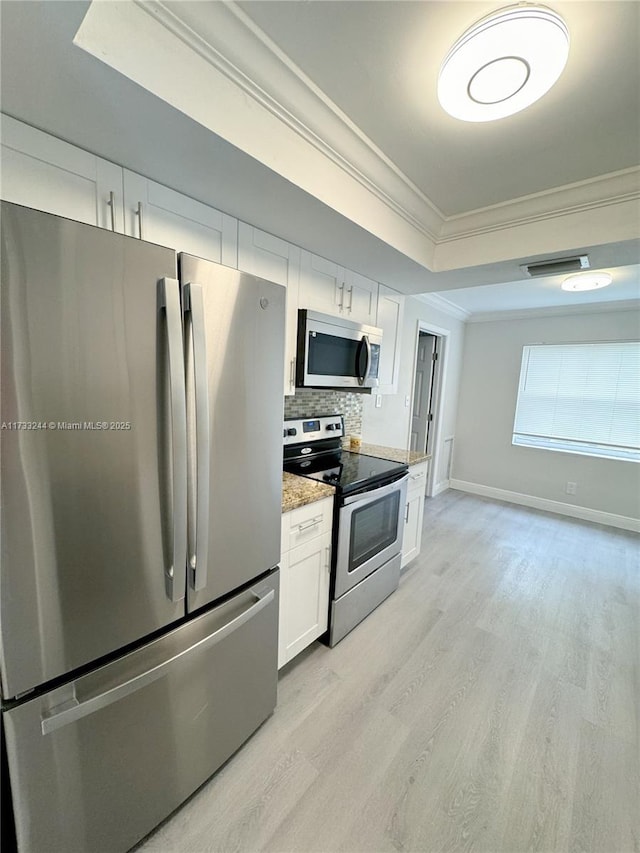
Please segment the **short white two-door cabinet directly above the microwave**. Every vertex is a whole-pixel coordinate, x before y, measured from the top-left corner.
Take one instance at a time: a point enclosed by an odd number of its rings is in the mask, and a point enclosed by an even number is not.
[[[300,308],[375,325],[378,284],[311,252],[300,253]]]

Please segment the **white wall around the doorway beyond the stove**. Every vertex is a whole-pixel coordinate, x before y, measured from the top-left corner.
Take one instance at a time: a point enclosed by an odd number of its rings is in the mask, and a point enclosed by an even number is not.
[[[370,444],[382,444],[387,447],[409,446],[411,427],[411,407],[413,400],[413,374],[416,361],[416,342],[418,324],[423,321],[436,333],[445,330],[445,348],[443,360],[444,387],[442,398],[442,420],[438,436],[438,456],[441,464],[435,478],[436,487],[443,481],[445,453],[444,442],[453,436],[456,425],[456,406],[462,366],[462,348],[465,324],[448,314],[437,310],[427,303],[413,297],[407,297],[404,303],[402,325],[402,351],[400,356],[400,378],[398,393],[384,395],[381,408],[375,408],[375,394],[364,398],[362,413],[362,438]],[[409,405],[405,405],[406,398]]]

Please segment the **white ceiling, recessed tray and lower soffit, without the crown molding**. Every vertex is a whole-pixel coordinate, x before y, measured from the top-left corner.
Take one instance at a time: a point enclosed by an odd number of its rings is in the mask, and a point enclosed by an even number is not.
[[[633,0],[554,3],[572,37],[565,74],[538,104],[484,125],[446,116],[435,99],[435,80],[451,43],[500,4],[237,5],[265,43],[283,51],[406,184],[454,224],[471,210],[640,161],[640,4]],[[164,4],[205,38],[215,6],[216,0]],[[614,274],[614,285],[595,295],[561,296],[553,279],[523,282],[518,258],[446,272],[425,268],[392,241],[340,215],[339,207],[283,179],[282,172],[212,133],[187,111],[74,46],[88,7],[87,0],[0,3],[3,111],[407,293],[442,290],[471,312],[640,295],[633,240],[580,247],[589,251],[594,267]],[[230,44],[230,56],[233,48]],[[549,254],[562,253],[540,249],[540,257]]]

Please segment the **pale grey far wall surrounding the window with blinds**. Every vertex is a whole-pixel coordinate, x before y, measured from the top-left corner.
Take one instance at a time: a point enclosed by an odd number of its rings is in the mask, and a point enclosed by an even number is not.
[[[637,463],[511,444],[525,344],[638,338],[639,321],[637,312],[608,311],[468,324],[452,472],[452,479],[461,482],[453,485],[503,489],[557,501],[569,505],[567,509],[573,505],[624,518],[640,517]],[[575,496],[566,494],[568,481],[577,483]],[[598,520],[589,512],[575,514]]]

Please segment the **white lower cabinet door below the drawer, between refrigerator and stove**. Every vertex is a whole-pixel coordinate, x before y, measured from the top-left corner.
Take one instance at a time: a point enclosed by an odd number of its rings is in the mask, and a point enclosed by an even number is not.
[[[331,539],[317,536],[292,548],[280,563],[282,578],[278,666],[327,630]]]

